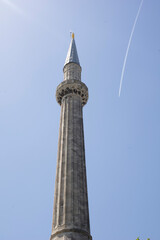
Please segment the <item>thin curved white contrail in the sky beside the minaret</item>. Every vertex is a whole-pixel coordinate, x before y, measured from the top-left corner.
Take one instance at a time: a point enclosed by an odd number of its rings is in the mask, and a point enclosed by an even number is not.
[[[131,35],[130,35],[130,38],[129,38],[129,41],[128,41],[128,46],[127,46],[126,55],[125,55],[125,58],[124,58],[124,63],[123,63],[123,68],[122,68],[122,73],[121,73],[121,80],[120,80],[120,86],[119,86],[119,97],[121,95],[122,81],[123,81],[124,70],[125,70],[126,61],[127,61],[127,57],[128,57],[128,52],[129,52],[129,48],[130,48],[130,45],[131,45],[133,33],[134,33],[134,30],[135,30],[135,26],[136,26],[136,23],[137,23],[142,5],[143,5],[143,0],[141,1],[140,5],[139,5],[139,9],[138,9],[138,12],[137,12],[137,15],[136,15],[133,27],[132,27]]]

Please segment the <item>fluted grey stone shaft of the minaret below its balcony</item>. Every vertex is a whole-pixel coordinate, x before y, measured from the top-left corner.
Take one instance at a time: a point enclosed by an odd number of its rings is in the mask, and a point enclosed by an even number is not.
[[[72,93],[61,102],[51,239],[64,236],[90,239],[82,101]]]

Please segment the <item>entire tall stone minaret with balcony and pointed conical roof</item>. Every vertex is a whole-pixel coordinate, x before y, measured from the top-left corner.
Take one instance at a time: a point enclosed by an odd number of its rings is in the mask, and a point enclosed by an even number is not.
[[[88,88],[81,82],[81,66],[72,34],[56,90],[61,106],[53,224],[50,240],[89,240],[89,210],[83,133],[83,106]]]

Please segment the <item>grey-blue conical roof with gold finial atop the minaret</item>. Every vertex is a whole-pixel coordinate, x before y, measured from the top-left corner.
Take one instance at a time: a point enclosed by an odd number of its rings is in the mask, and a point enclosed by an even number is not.
[[[72,33],[72,39],[71,39],[71,43],[70,43],[70,46],[68,49],[68,53],[67,53],[67,57],[66,57],[66,61],[65,61],[64,65],[66,65],[67,63],[72,63],[72,62],[80,65],[77,48],[76,48],[76,43],[74,40],[74,33]]]

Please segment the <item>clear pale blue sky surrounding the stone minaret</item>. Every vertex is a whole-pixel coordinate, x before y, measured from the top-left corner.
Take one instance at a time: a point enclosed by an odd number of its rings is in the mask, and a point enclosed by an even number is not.
[[[49,239],[60,107],[75,40],[94,240],[160,239],[160,2],[0,0],[0,240]]]

